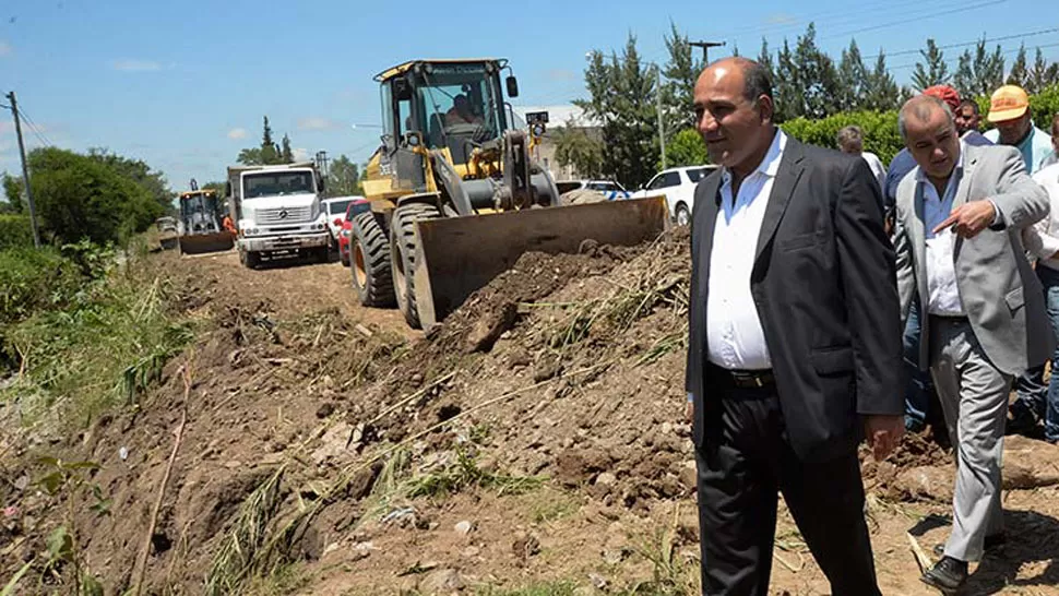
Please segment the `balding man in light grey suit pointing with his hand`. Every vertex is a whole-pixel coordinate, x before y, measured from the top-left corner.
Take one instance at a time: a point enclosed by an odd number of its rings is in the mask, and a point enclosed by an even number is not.
[[[923,581],[944,593],[1003,537],[1000,458],[1012,379],[1054,342],[1021,230],[1048,196],[1012,147],[973,146],[951,109],[909,99],[899,126],[918,164],[897,189],[897,288],[903,315],[923,306],[920,367],[929,365],[956,455],[952,533]]]

